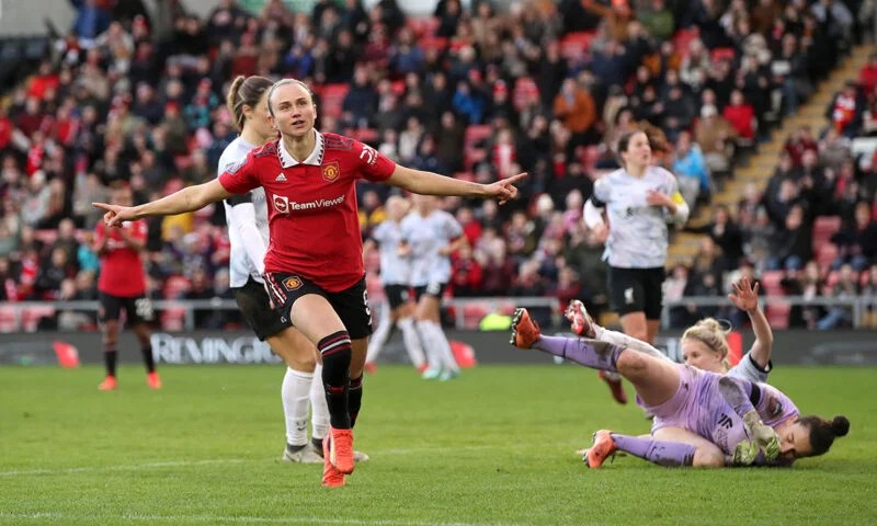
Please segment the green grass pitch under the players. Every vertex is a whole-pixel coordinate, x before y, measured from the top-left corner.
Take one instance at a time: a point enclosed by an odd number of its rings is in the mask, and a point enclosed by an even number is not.
[[[438,384],[385,366],[355,432],[372,460],[331,490],[321,466],[280,461],[281,366],[160,373],[160,391],[126,366],[99,392],[99,367],[0,368],[0,524],[877,523],[874,368],[772,375],[804,412],[852,422],[793,469],[589,470],[572,451],[593,431],[648,428],[593,371],[486,366]]]

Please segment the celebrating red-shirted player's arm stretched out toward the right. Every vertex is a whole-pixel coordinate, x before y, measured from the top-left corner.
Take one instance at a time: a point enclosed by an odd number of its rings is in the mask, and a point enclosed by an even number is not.
[[[499,199],[500,204],[503,204],[517,196],[517,188],[514,183],[526,175],[526,173],[519,173],[492,184],[479,184],[447,178],[437,173],[412,170],[397,164],[392,175],[386,182],[389,185],[420,195],[480,197],[483,199]]]

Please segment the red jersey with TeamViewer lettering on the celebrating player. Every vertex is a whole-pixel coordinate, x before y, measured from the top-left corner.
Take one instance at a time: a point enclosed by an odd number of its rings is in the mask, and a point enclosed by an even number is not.
[[[275,140],[250,151],[219,182],[234,194],[265,190],[271,232],[266,272],[299,274],[335,293],[365,273],[356,180],[384,181],[396,164],[360,141],[315,133],[314,152],[303,162]]]

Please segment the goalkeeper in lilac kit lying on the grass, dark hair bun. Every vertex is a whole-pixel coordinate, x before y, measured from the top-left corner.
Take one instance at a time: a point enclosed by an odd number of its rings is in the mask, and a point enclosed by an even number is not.
[[[590,339],[543,336],[526,309],[517,309],[511,343],[619,373],[637,390],[637,403],[654,415],[649,438],[608,431],[594,434],[588,465],[596,468],[616,450],[661,466],[790,465],[822,455],[850,422],[799,418],[779,390],[722,376]]]

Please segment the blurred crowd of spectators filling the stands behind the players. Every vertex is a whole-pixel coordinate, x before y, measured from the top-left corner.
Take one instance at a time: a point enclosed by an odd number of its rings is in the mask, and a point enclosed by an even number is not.
[[[396,0],[371,9],[319,0],[308,13],[280,0],[259,12],[221,0],[204,20],[185,0],[153,13],[139,0],[71,2],[72,31],[0,112],[4,301],[94,298],[90,243],[101,215],[90,203],[119,184],[144,202],[214,178],[236,133],[223,104],[228,83],[263,75],[301,79],[321,130],[398,162],[479,182],[529,172],[509,206],[445,201],[468,240],[452,294],[582,298],[599,311],[603,247],[581,210],[593,179],[617,167],[615,139],[660,128],[660,162],[692,206],[708,205],[738,152],[794,115],[866,27],[856,0],[441,0],[429,19],[407,19]],[[832,102],[824,136],[789,140],[763,194],[753,187],[737,210],[715,209],[709,241],[691,268],[673,270],[669,289],[721,295],[747,267],[797,279],[815,255],[815,218],[825,215],[843,220],[832,238],[840,273],[875,263],[877,164],[850,153],[851,138],[877,129],[875,84],[877,59]],[[360,185],[364,237],[390,191]],[[153,299],[230,297],[224,225],[220,206],[149,220]],[[683,310],[679,319],[694,313]],[[234,319],[205,311],[197,321]]]

